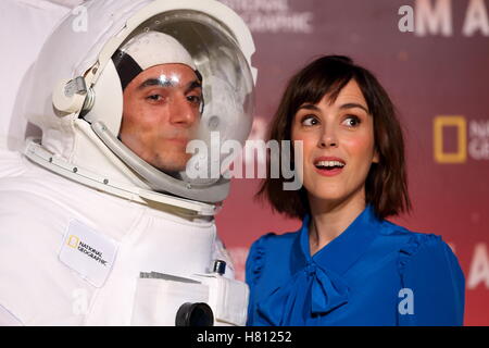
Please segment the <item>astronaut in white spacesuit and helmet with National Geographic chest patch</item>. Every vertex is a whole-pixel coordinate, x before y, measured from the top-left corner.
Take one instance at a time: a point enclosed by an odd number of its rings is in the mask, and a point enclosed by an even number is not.
[[[0,178],[0,324],[243,325],[214,223],[229,181],[191,178],[215,159],[186,149],[247,138],[251,35],[214,0],[84,5],[17,97],[42,138]]]

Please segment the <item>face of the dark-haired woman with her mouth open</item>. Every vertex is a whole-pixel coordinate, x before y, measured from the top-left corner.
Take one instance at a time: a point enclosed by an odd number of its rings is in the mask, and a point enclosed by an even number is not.
[[[378,156],[374,120],[355,80],[334,102],[325,95],[316,104],[302,104],[292,121],[291,137],[303,141],[301,175],[310,200],[364,202],[365,181]]]

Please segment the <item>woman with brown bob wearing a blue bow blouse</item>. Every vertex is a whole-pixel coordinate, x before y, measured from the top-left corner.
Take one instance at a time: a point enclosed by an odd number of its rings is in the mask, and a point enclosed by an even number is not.
[[[303,223],[251,247],[250,325],[463,323],[464,275],[448,245],[385,220],[411,202],[401,126],[371,72],[315,60],[290,79],[269,139],[301,146],[291,164],[303,186],[266,178],[259,196]]]

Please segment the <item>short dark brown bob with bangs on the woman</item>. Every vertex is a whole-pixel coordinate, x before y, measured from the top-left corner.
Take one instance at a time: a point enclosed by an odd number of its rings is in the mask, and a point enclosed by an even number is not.
[[[367,70],[343,55],[322,57],[298,72],[289,80],[286,91],[272,121],[268,140],[291,140],[291,125],[299,108],[317,103],[329,94],[336,100],[341,89],[354,79],[374,117],[375,149],[379,163],[373,163],[365,182],[365,203],[372,204],[376,215],[385,219],[408,212],[411,201],[404,162],[404,140],[401,126],[386,90]],[[269,171],[269,158],[268,158]],[[293,159],[290,167],[293,167]],[[272,208],[290,217],[303,219],[310,213],[306,190],[284,190],[284,177],[267,175],[256,194],[266,198]]]

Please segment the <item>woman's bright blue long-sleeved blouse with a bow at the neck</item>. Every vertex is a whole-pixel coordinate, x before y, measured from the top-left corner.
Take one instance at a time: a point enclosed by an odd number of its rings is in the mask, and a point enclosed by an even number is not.
[[[463,324],[464,274],[441,237],[378,220],[367,206],[311,257],[310,219],[252,245],[249,325]]]

